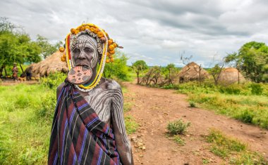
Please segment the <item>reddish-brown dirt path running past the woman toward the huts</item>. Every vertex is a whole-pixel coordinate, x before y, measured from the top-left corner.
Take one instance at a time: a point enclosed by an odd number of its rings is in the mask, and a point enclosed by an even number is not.
[[[132,140],[135,164],[202,164],[202,159],[209,159],[210,164],[221,164],[223,159],[209,152],[204,135],[209,128],[216,128],[226,135],[248,143],[253,151],[268,157],[268,131],[243,124],[209,110],[188,107],[186,95],[173,90],[148,88],[125,83],[128,93],[124,95],[126,102],[133,106],[126,115],[131,115],[140,124],[136,133],[130,135]],[[166,126],[176,119],[190,121],[185,139],[181,146],[166,138]],[[144,148],[137,147],[138,143]],[[136,145],[136,147],[135,147]]]

